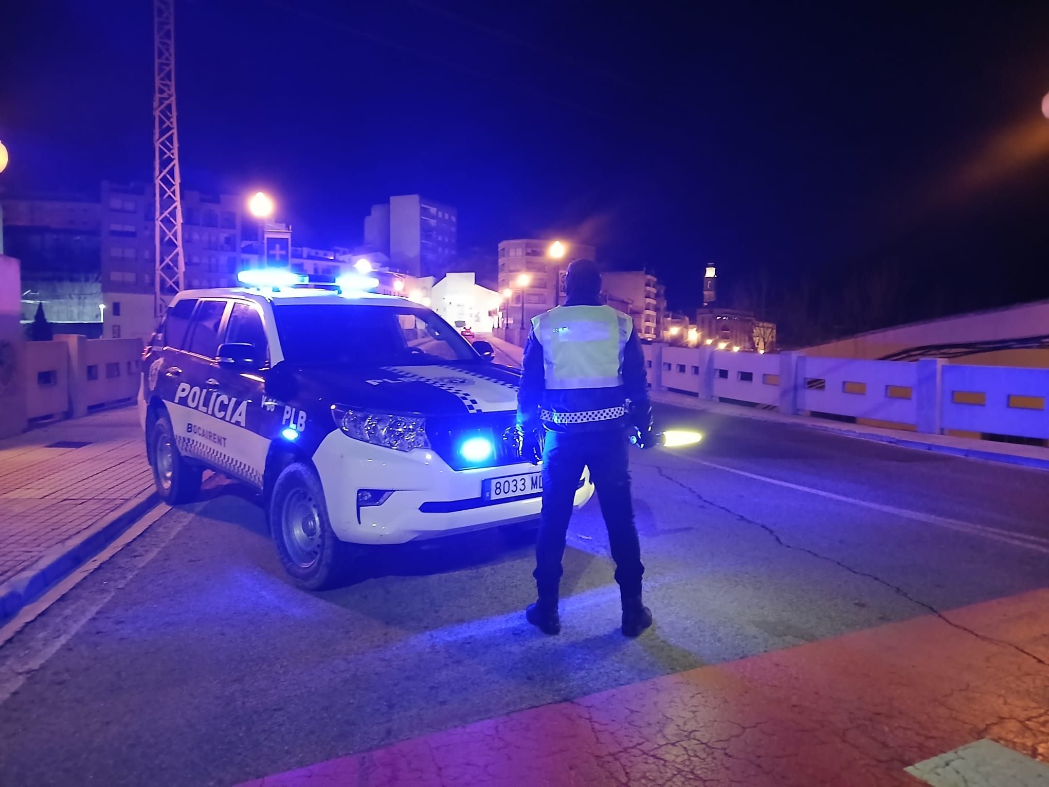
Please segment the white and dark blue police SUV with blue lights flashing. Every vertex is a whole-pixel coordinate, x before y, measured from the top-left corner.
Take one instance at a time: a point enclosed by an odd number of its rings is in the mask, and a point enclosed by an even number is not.
[[[281,561],[311,590],[349,578],[354,545],[538,516],[541,476],[514,430],[519,375],[491,344],[343,282],[241,281],[259,286],[179,293],[146,349],[140,414],[166,502],[193,501],[206,468],[255,487]],[[592,493],[584,474],[576,505]]]

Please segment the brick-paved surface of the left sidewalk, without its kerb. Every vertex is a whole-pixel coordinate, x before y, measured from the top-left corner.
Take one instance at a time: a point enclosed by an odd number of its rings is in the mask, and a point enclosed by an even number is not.
[[[152,483],[134,407],[0,441],[0,584]]]

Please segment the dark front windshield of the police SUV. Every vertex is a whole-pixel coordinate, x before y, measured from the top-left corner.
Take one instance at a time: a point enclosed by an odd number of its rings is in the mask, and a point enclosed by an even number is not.
[[[480,360],[428,309],[304,303],[273,312],[284,360],[292,363],[403,366]]]

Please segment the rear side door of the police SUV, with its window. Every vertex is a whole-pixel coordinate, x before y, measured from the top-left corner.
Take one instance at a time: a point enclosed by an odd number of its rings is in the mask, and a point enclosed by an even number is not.
[[[218,339],[231,303],[226,298],[200,298],[190,320],[178,363],[168,369],[174,391],[165,397],[178,450],[186,456],[223,469],[228,437],[218,428],[224,409],[216,412],[219,386]]]

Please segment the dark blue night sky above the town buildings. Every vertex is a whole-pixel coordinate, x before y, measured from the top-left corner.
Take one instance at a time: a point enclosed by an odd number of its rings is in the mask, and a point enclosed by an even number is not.
[[[8,5],[6,190],[149,179],[150,3]],[[178,0],[176,35],[184,183],[299,242],[420,192],[461,251],[563,233],[678,307],[706,264],[782,323],[886,271],[875,322],[1049,297],[1049,3]]]

